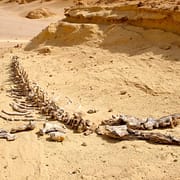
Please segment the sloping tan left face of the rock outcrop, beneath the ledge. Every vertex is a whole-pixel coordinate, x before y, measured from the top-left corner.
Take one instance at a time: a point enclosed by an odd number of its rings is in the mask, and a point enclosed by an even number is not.
[[[78,45],[87,42],[93,44],[93,41],[100,41],[98,39],[100,39],[101,33],[97,25],[52,23],[34,37],[25,50],[36,49],[41,44],[53,46]]]

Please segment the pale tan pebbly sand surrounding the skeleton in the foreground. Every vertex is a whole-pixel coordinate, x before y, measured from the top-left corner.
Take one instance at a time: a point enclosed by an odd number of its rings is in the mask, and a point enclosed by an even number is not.
[[[0,9],[0,13],[2,11]],[[4,14],[5,17],[13,18]],[[24,18],[13,19],[17,25],[26,21]],[[16,28],[12,33],[9,23],[1,40],[29,40],[47,22],[38,26],[36,32],[31,31],[31,23],[27,23],[23,34],[18,34]],[[41,23],[44,21],[38,21]],[[68,111],[97,109],[96,114],[84,114],[94,122],[119,112],[138,117],[160,117],[179,112],[179,36],[131,26],[126,26],[126,29],[125,33],[137,37],[138,41],[133,41],[135,44],[126,44],[125,41],[124,48],[119,42],[114,47],[109,45],[114,42],[114,39],[109,39],[106,46],[97,48],[87,44],[50,45],[52,52],[43,55],[21,48],[4,48],[11,43],[1,43],[0,109],[9,109],[8,104],[12,101],[6,92],[12,85],[8,80],[8,67],[10,58],[18,55],[30,78],[44,87],[60,106]],[[150,41],[147,41],[147,35]],[[157,38],[166,40],[158,44]],[[153,41],[154,44],[150,43]],[[121,95],[121,91],[127,93]],[[72,100],[71,105],[66,105],[66,96]],[[113,109],[111,113],[108,112],[110,108]],[[0,121],[0,127],[7,130],[16,124],[21,122]],[[14,142],[0,140],[0,179],[180,179],[179,147],[144,141],[118,142],[95,134],[85,137],[71,131],[63,143],[53,143],[46,141],[46,137],[38,138],[37,131],[38,128],[20,133]],[[180,137],[179,131],[180,126],[162,132]],[[83,142],[87,146],[82,146]]]

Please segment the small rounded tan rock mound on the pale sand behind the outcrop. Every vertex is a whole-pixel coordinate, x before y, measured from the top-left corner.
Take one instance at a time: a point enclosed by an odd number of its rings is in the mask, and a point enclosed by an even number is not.
[[[51,16],[54,16],[55,13],[50,12],[47,8],[39,8],[39,9],[34,9],[30,11],[27,15],[26,18],[29,19],[41,19],[41,18],[48,18]]]

